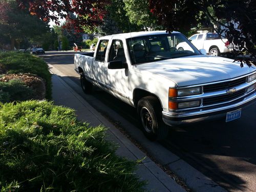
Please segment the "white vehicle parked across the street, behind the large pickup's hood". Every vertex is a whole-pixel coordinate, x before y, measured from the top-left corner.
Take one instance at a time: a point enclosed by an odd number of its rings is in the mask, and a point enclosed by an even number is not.
[[[199,33],[188,38],[196,48],[205,49],[206,53],[212,56],[219,56],[231,52],[234,48],[227,39],[221,38],[218,33]],[[178,50],[189,50],[186,44],[178,44]]]

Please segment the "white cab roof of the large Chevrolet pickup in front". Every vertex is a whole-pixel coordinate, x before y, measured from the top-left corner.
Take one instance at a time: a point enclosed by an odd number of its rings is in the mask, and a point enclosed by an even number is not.
[[[180,32],[173,31],[172,33],[180,33]],[[157,34],[166,34],[166,31],[140,31],[140,32],[131,32],[131,33],[119,33],[114,35],[103,36],[100,38],[106,38],[106,37],[132,38],[132,37],[157,35]]]

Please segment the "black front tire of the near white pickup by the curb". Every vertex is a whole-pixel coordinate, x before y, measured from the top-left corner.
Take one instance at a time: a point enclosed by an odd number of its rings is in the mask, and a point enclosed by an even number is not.
[[[169,127],[162,120],[162,108],[156,97],[147,96],[140,99],[137,113],[146,138],[160,141],[167,137]]]

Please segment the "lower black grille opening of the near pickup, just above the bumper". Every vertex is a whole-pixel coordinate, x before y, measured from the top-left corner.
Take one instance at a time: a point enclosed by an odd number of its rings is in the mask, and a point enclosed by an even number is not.
[[[231,101],[233,99],[243,96],[245,94],[245,90],[246,89],[240,90],[231,95],[221,95],[221,96],[216,96],[216,97],[204,98],[203,105],[205,106],[205,105],[218,104],[218,103],[222,103],[222,102]]]

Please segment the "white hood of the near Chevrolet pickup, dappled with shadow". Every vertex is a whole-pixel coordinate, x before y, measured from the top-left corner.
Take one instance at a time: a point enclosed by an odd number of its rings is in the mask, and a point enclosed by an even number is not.
[[[241,68],[240,62],[224,57],[196,55],[143,63],[137,65],[137,70],[163,76],[183,87],[239,77],[255,71],[255,68],[247,65]]]

